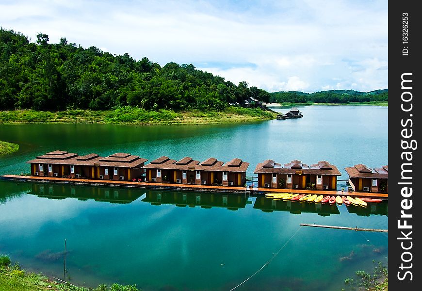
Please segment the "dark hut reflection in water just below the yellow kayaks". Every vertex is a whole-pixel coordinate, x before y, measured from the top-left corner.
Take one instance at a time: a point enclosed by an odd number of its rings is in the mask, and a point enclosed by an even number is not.
[[[340,214],[337,205],[330,205],[329,203],[308,203],[299,201],[284,201],[275,200],[266,197],[257,197],[254,204],[255,209],[260,209],[264,212],[276,211],[289,211],[293,214],[306,213],[318,213],[321,216],[329,216],[331,214]]]

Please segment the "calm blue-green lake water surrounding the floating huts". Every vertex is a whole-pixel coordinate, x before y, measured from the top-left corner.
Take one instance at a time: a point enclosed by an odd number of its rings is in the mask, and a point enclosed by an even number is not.
[[[20,145],[0,174],[55,149],[130,152],[196,160],[327,160],[388,164],[388,108],[308,106],[304,118],[219,126],[15,125],[0,140]],[[281,109],[287,112],[286,109]],[[343,182],[339,182],[341,188]],[[300,223],[388,227],[388,204],[368,208],[287,203],[263,197],[0,181],[0,253],[27,268],[93,286],[142,290],[341,290],[356,270],[386,262],[388,235],[300,228]],[[297,232],[296,232],[297,231]],[[295,234],[296,233],[296,234]],[[295,234],[293,236],[293,234]]]

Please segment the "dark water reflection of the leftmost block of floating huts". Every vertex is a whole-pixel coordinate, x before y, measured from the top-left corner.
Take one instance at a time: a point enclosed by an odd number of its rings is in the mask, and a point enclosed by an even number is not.
[[[34,183],[30,194],[49,199],[77,198],[81,201],[94,199],[101,202],[126,204],[138,199],[144,192],[135,189],[116,189],[112,187],[80,187]]]

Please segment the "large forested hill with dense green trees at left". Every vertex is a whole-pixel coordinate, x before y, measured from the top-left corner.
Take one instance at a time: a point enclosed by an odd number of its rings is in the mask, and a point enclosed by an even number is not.
[[[238,86],[194,65],[161,67],[146,57],[113,55],[84,49],[62,38],[49,44],[39,33],[36,43],[13,30],[0,29],[0,110],[105,110],[138,106],[146,110],[223,110],[227,102],[270,95],[246,82]]]

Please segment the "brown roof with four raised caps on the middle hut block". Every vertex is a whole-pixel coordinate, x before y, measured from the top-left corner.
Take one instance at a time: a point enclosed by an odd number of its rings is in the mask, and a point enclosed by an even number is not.
[[[195,161],[190,157],[186,157],[178,162],[176,162],[175,160],[168,160],[161,164],[151,162],[145,165],[143,168],[168,170],[189,170],[189,168],[195,168],[196,171],[246,172],[248,166],[249,163],[243,162],[241,159],[233,159],[227,164],[224,164],[224,162],[217,161],[217,159],[215,158],[208,158],[204,162],[199,163],[198,161]]]

